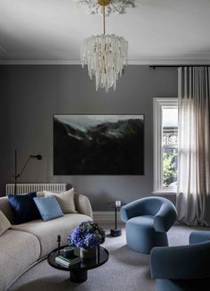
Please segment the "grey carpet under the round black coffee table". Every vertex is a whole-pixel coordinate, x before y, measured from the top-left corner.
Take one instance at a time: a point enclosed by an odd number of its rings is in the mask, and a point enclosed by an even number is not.
[[[109,234],[109,226],[102,226]],[[169,245],[187,245],[190,232],[202,228],[174,226],[168,232]],[[206,229],[206,228],[205,228]],[[206,229],[209,230],[209,229]],[[89,270],[83,284],[69,281],[69,272],[53,269],[46,260],[38,263],[18,279],[9,291],[154,291],[155,281],[150,279],[149,255],[133,252],[122,237],[107,237],[103,244],[109,250],[109,261]]]

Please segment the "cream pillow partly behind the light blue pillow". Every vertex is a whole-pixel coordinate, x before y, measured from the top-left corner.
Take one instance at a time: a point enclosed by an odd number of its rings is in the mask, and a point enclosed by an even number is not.
[[[67,213],[76,213],[75,207],[75,189],[71,188],[68,191],[61,193],[54,193],[50,191],[44,191],[44,196],[54,195],[61,206],[61,211],[64,214]]]

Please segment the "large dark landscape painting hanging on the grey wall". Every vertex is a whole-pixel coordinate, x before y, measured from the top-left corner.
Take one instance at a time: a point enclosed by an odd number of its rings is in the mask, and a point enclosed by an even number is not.
[[[54,115],[54,175],[143,175],[143,115]]]

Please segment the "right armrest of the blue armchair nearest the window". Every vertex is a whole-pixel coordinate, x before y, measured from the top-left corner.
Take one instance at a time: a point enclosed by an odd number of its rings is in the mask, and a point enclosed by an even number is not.
[[[177,218],[174,204],[163,204],[154,217],[154,228],[156,231],[168,231]]]

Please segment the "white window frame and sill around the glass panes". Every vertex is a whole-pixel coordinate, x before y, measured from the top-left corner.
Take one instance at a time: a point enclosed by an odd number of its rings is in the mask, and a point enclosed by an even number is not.
[[[162,107],[171,106],[178,107],[177,97],[155,97],[153,98],[153,166],[154,166],[154,179],[153,179],[153,194],[176,193],[176,187],[162,187]],[[179,130],[179,129],[178,129]]]

